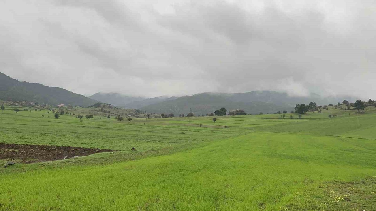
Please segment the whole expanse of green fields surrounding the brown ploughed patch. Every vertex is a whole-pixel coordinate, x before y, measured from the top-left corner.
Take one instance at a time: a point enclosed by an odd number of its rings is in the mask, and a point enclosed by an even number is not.
[[[3,168],[0,210],[376,210],[374,107],[215,123],[46,112],[7,107],[0,142],[120,151]]]

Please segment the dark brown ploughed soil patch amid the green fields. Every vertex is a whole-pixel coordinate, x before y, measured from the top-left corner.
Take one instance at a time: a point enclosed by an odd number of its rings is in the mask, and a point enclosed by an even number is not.
[[[0,160],[16,163],[37,163],[86,156],[111,149],[91,149],[73,146],[19,145],[0,143]]]

